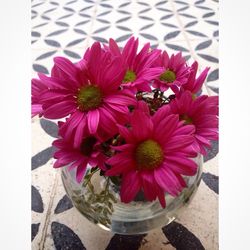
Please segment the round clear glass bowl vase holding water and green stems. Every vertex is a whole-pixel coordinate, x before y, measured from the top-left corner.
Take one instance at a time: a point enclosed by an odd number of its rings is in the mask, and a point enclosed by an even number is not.
[[[193,198],[200,184],[203,158],[199,155],[194,161],[198,171],[194,176],[185,176],[187,188],[177,197],[165,195],[166,208],[162,208],[158,199],[149,202],[139,192],[134,201],[125,204],[120,201],[119,185],[113,180],[88,169],[81,183],[75,179],[75,171],[62,169],[62,181],[67,195],[77,210],[88,220],[103,229],[118,234],[142,234],[167,225],[173,221],[180,210]],[[86,179],[91,182],[86,184]]]

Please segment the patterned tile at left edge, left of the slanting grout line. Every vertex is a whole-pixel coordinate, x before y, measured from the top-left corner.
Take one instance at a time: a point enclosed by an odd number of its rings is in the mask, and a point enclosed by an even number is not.
[[[40,122],[36,118],[33,119],[31,132],[33,138],[31,160],[32,246],[34,249],[38,249],[49,216],[56,173],[52,168],[53,149],[51,150],[50,145],[53,138],[41,129]],[[44,148],[45,145],[47,145],[46,148]]]

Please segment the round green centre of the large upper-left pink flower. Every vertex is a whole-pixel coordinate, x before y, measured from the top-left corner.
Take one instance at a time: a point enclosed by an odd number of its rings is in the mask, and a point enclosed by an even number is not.
[[[77,94],[77,104],[81,111],[98,108],[102,103],[101,90],[95,85],[82,87]]]

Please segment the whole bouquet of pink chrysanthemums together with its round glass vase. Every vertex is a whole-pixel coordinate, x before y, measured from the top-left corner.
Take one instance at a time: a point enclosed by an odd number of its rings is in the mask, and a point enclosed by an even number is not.
[[[209,68],[197,76],[181,52],[138,45],[95,42],[79,62],[55,57],[50,76],[32,79],[32,116],[59,120],[54,168],[74,206],[128,234],[174,219],[218,140],[218,97],[200,94]]]

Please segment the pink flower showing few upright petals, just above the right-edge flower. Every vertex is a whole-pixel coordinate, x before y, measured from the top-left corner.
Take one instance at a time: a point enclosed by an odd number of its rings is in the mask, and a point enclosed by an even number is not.
[[[198,63],[194,62],[190,67],[190,75],[187,82],[181,85],[182,92],[185,90],[189,90],[190,92],[192,92],[192,94],[197,94],[197,92],[201,90],[202,84],[207,77],[209,67],[206,67],[196,79],[197,70]]]

